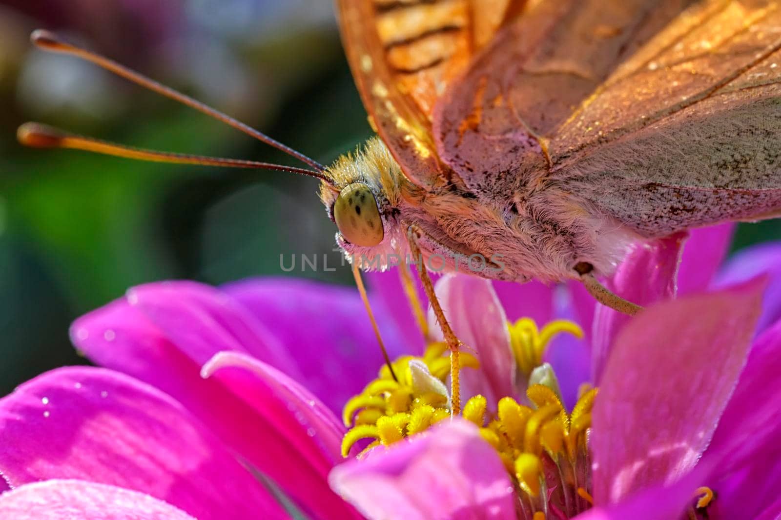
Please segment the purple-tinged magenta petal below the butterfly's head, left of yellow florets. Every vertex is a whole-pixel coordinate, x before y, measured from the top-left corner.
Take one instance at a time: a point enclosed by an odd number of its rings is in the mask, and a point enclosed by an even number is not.
[[[395,271],[384,275],[398,279]],[[302,379],[294,379],[337,413],[341,413],[350,397],[361,393],[383,365],[366,309],[355,288],[307,280],[259,279],[230,283],[223,290],[280,338],[301,374]],[[402,299],[396,305],[401,308],[406,303]],[[374,312],[380,319],[383,341],[391,357],[408,354],[401,348],[406,345],[398,331],[384,326],[387,316],[383,311],[376,308]],[[423,336],[417,326],[415,329],[419,344],[423,344]]]

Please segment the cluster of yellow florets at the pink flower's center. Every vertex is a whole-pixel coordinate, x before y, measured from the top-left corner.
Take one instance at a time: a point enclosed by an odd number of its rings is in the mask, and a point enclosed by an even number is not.
[[[598,390],[584,383],[572,411],[567,411],[555,373],[542,358],[558,333],[583,337],[583,331],[566,320],[538,329],[528,318],[508,324],[508,329],[519,372],[528,382],[525,395],[520,400],[502,397],[490,408],[486,397],[475,395],[466,401],[462,418],[480,429],[504,463],[519,497],[520,518],[572,518],[594,504],[588,442]],[[342,418],[350,429],[342,440],[342,456],[348,457],[361,441],[369,443],[358,457],[450,417],[452,404],[445,385],[451,369],[447,352],[444,342],[433,343],[423,357],[398,358],[392,364],[398,381],[383,365],[378,378],[344,405]],[[460,353],[460,361],[465,368],[480,368],[478,360],[467,352]],[[692,512],[699,515],[712,496],[708,488],[697,490]]]

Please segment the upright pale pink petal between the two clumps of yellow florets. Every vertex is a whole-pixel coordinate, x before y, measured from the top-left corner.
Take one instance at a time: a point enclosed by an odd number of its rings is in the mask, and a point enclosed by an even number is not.
[[[475,352],[480,369],[464,369],[462,395],[483,394],[495,404],[501,397],[515,396],[515,360],[510,347],[505,312],[489,280],[476,276],[446,275],[435,287],[440,305],[455,335]]]

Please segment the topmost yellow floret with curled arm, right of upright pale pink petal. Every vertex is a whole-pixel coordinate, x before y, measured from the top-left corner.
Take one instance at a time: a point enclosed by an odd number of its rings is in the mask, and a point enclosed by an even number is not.
[[[583,329],[566,319],[556,319],[540,330],[533,319],[521,318],[515,323],[508,323],[508,330],[515,361],[525,376],[542,365],[545,350],[556,335],[569,333],[577,338],[583,337]]]

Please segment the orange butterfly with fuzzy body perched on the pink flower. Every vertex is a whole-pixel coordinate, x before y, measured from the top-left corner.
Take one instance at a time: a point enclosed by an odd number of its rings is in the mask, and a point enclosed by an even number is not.
[[[330,167],[45,31],[37,45],[191,105],[308,167],[139,151],[36,123],[20,128],[20,140],[315,176],[337,243],[356,264],[387,269],[411,255],[422,274],[437,258],[446,270],[498,280],[581,280],[629,313],[637,306],[597,281],[628,244],[781,215],[779,2],[337,7],[378,137]]]

